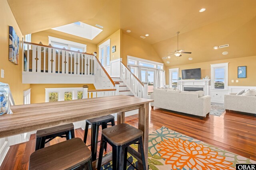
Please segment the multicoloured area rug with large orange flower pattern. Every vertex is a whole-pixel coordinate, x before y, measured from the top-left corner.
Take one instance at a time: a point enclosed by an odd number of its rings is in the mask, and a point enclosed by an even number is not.
[[[214,147],[167,127],[149,134],[148,165],[150,170],[235,170],[236,164],[256,164],[256,161]],[[132,147],[137,148],[136,145]],[[137,160],[128,154],[137,167]],[[102,166],[102,170],[110,166]],[[129,163],[127,170],[134,170]],[[109,167],[108,170],[112,170]]]

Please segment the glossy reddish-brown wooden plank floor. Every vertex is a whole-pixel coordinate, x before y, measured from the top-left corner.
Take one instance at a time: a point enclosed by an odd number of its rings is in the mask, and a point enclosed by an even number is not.
[[[126,117],[126,123],[138,127],[138,115]],[[220,117],[207,115],[204,120],[201,120],[196,116],[173,113],[155,107],[150,111],[149,126],[150,133],[165,126],[216,147],[256,160],[256,117],[252,115],[224,112]],[[83,139],[84,131],[76,129],[75,136]],[[50,141],[50,145],[64,140],[57,138]],[[89,145],[90,137],[87,141]],[[29,156],[34,152],[34,148],[34,135],[28,142],[11,146],[0,170],[28,169]],[[108,146],[107,152],[110,150]]]

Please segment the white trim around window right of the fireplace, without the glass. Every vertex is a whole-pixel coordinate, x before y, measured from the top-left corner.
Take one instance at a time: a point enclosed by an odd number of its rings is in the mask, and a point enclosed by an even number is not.
[[[224,89],[215,89],[214,88],[214,81],[215,81],[214,68],[224,68],[225,69]],[[228,90],[228,63],[211,64],[211,90]]]

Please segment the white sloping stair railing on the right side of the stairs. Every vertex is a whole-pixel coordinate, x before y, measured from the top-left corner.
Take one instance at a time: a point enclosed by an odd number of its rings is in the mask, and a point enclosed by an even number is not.
[[[120,78],[124,81],[126,86],[138,98],[147,98],[148,86],[143,84],[130,70],[127,68],[122,61],[120,62]]]

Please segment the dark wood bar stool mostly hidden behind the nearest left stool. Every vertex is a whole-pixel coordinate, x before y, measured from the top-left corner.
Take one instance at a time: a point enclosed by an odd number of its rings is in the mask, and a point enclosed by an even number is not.
[[[44,148],[46,143],[56,137],[66,137],[67,140],[74,138],[74,124],[69,123],[36,131],[36,150]]]

